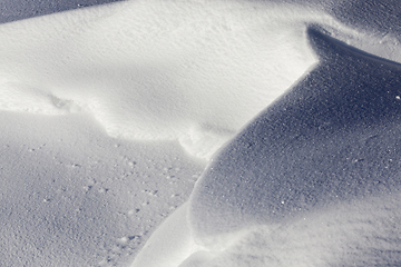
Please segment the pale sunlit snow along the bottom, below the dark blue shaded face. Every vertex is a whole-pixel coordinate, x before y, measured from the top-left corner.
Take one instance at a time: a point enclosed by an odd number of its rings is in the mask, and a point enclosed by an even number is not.
[[[214,238],[205,247],[193,240],[184,205],[131,267],[398,266],[400,200],[398,191],[334,205],[281,224],[229,233],[224,241]]]

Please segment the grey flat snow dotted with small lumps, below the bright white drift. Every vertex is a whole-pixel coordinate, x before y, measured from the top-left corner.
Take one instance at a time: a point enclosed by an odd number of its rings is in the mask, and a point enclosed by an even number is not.
[[[85,113],[0,113],[1,266],[127,266],[205,164]]]

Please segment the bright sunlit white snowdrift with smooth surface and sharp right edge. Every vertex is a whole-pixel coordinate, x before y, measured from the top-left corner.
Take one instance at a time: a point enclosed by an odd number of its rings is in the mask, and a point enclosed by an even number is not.
[[[209,158],[316,61],[305,23],[380,44],[322,8],[270,2],[127,1],[2,24],[0,109],[84,110],[110,136]]]

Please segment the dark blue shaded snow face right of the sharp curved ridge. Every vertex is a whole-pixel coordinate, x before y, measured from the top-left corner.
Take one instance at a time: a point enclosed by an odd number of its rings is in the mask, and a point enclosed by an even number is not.
[[[277,227],[362,199],[399,199],[401,66],[314,28],[307,32],[320,63],[222,149],[197,181],[189,225],[198,243],[209,246],[225,234]],[[359,205],[363,217],[368,211]],[[399,218],[399,205],[391,205]],[[346,211],[339,216],[346,225]],[[369,218],[376,224],[374,214]],[[379,249],[379,239],[369,246]]]

